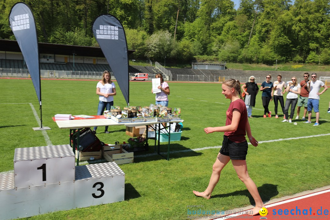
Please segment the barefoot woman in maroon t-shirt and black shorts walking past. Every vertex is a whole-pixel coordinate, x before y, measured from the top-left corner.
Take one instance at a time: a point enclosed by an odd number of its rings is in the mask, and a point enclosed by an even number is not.
[[[231,160],[238,177],[246,185],[255,202],[255,207],[248,215],[256,215],[259,213],[259,209],[265,206],[260,198],[257,186],[248,174],[246,163],[248,142],[245,139],[245,135],[248,135],[248,139],[253,146],[257,146],[258,141],[251,134],[247,109],[242,100],[240,81],[227,79],[222,83],[221,88],[225,98],[231,101],[226,112],[226,125],[204,128],[204,131],[206,134],[224,132],[222,147],[213,164],[213,172],[208,187],[204,192],[193,191],[193,193],[196,196],[210,199],[211,193],[219,181],[222,169]]]

